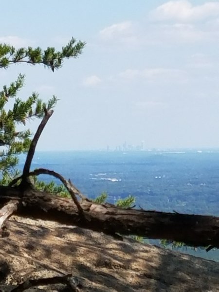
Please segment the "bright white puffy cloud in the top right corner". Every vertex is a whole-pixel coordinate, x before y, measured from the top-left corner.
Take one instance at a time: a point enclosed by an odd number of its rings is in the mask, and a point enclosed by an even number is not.
[[[219,2],[208,1],[193,6],[187,0],[168,1],[150,13],[152,20],[197,21],[219,15]]]

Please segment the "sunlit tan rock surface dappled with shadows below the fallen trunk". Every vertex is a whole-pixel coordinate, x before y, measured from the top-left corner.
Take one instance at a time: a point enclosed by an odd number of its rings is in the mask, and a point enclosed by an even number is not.
[[[83,292],[219,291],[214,261],[51,221],[13,216],[7,231],[0,238],[1,291],[30,278],[64,274],[72,274],[75,291]],[[37,288],[65,289],[64,284]]]

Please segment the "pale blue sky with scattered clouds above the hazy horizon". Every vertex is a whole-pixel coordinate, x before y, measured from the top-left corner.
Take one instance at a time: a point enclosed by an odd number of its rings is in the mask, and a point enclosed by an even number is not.
[[[20,98],[59,99],[38,150],[219,147],[219,1],[2,1],[1,43],[60,49],[71,37],[87,45],[55,73],[0,71],[0,86],[26,74]]]

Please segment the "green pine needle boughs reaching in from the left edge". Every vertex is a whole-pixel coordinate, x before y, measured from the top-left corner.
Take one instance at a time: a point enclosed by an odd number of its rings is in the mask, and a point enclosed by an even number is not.
[[[53,72],[61,68],[64,59],[76,58],[85,46],[85,42],[76,41],[72,38],[69,43],[62,47],[61,51],[56,51],[53,47],[48,47],[45,51],[41,48],[19,48],[8,44],[0,44],[0,68],[7,69],[15,63],[27,63],[31,65],[41,64]],[[0,184],[7,185],[19,171],[16,169],[19,158],[18,155],[28,151],[32,133],[29,128],[18,131],[17,126],[22,123],[26,126],[26,121],[33,118],[42,118],[45,110],[52,109],[57,98],[52,98],[43,102],[37,92],[33,92],[26,100],[18,97],[19,91],[24,86],[25,76],[19,74],[16,81],[9,86],[4,85],[0,91]],[[14,104],[10,110],[6,110],[9,100],[14,99]]]

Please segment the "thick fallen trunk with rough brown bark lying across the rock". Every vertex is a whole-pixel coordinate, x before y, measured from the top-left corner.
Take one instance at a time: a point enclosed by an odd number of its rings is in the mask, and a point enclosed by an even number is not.
[[[212,216],[163,213],[120,209],[111,204],[81,201],[83,216],[72,199],[18,187],[0,186],[0,205],[11,199],[19,201],[15,214],[76,225],[115,235],[137,235],[147,238],[185,242],[192,246],[219,247],[219,218]]]

